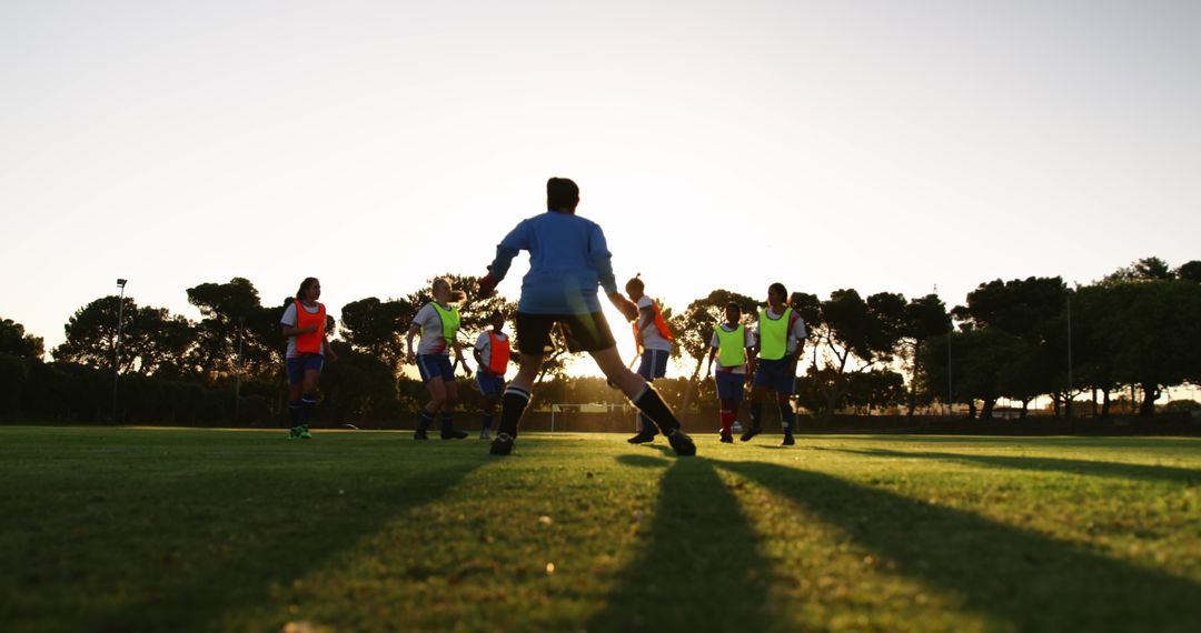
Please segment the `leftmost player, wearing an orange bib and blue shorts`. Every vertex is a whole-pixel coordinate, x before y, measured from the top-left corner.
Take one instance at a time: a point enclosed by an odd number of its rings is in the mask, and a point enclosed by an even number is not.
[[[309,421],[317,406],[317,379],[328,356],[337,360],[325,338],[325,306],[321,299],[321,282],[306,277],[300,282],[297,297],[288,303],[280,318],[280,327],[288,339],[285,367],[288,373],[288,417],[292,422],[289,440],[312,438]]]

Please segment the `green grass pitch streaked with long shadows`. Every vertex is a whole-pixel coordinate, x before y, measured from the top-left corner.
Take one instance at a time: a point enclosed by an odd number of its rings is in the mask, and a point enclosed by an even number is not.
[[[0,631],[1201,622],[1199,439],[283,435],[0,427]]]

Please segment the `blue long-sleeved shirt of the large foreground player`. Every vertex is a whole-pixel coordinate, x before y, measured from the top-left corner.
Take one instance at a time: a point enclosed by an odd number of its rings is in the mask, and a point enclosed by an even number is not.
[[[488,267],[498,282],[513,258],[530,252],[518,311],[527,314],[586,314],[600,311],[597,287],[616,293],[613,254],[600,225],[572,213],[548,211],[521,221],[496,246]]]

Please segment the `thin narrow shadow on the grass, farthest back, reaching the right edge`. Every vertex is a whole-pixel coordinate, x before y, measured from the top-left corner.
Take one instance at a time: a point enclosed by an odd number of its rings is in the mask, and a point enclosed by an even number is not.
[[[943,462],[961,462],[966,464],[984,464],[986,466],[1016,470],[1071,472],[1075,475],[1095,475],[1101,477],[1124,477],[1175,483],[1195,484],[1201,482],[1201,470],[1178,466],[1157,466],[1151,464],[1124,464],[1121,462],[1093,462],[1088,459],[1063,459],[1058,457],[1018,457],[985,456],[970,453],[933,453],[889,451],[885,448],[827,448],[841,453],[855,453],[882,458],[937,459]]]

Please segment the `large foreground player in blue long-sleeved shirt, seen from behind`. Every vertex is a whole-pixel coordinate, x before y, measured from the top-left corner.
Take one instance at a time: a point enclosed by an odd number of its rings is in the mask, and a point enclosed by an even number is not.
[[[626,319],[638,318],[638,308],[617,293],[613,255],[604,233],[594,222],[575,215],[580,189],[568,179],[546,181],[546,212],[522,221],[501,240],[489,273],[479,281],[480,297],[492,294],[504,279],[513,258],[530,252],[530,272],[521,281],[518,302],[516,346],[521,351],[518,375],[501,399],[501,426],[492,440],[492,454],[509,454],[518,435],[518,422],[530,404],[534,378],[544,355],[552,350],[550,331],[563,330],[572,351],[587,351],[609,382],[620,388],[645,412],[680,456],[697,454],[697,446],[680,429],[680,421],[668,409],[646,379],[621,362],[609,322],[600,312],[597,287]]]

